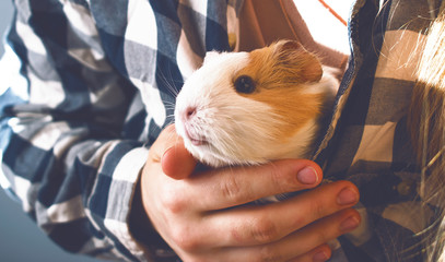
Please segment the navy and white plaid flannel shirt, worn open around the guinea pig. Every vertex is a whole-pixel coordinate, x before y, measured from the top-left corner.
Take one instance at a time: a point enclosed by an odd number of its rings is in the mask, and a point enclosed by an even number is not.
[[[363,223],[336,241],[332,261],[421,260],[417,234],[434,206],[418,199],[406,118],[426,2],[359,0],[352,9],[352,55],[316,160],[328,180],[359,187]],[[184,80],[207,51],[230,51],[227,20],[242,5],[15,1],[0,63],[0,181],[58,245],[98,258],[168,259],[129,231],[134,184]]]

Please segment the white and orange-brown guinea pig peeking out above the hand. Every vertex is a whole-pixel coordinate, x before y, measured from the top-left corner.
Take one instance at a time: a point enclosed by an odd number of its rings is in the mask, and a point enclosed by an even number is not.
[[[208,52],[176,98],[177,133],[213,167],[308,158],[337,94],[336,73],[292,40]]]

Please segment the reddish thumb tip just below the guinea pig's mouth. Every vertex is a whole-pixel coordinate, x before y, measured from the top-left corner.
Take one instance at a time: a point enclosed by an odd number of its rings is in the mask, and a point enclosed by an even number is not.
[[[174,126],[172,129],[175,131]],[[177,136],[174,141],[174,144],[168,146],[161,157],[162,169],[171,178],[185,179],[194,171],[197,160],[186,150],[180,136]]]

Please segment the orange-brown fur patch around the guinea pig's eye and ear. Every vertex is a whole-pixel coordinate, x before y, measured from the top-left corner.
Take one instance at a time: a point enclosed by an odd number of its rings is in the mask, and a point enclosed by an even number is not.
[[[323,70],[318,59],[295,41],[279,41],[251,51],[250,62],[237,72],[249,75],[256,83],[245,97],[270,105],[284,124],[272,127],[281,142],[293,136],[309,120],[321,114],[324,94],[305,94],[304,84],[320,80]]]

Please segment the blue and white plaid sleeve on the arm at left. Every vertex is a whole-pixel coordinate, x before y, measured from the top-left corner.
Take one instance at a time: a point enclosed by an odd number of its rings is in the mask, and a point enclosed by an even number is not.
[[[0,62],[1,186],[65,250],[147,260],[127,221],[148,148],[121,139],[136,88],[82,1],[15,3]]]

